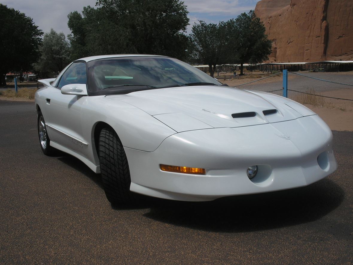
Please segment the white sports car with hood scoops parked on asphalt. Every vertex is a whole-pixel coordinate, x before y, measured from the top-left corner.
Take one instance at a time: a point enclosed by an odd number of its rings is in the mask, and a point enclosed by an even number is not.
[[[44,154],[101,173],[112,204],[207,201],[301,187],[337,168],[332,133],[303,105],[222,85],[156,55],[103,55],[68,65],[35,95]]]

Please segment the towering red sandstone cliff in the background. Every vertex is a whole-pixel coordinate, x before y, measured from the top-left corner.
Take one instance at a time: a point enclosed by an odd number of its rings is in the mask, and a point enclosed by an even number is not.
[[[255,13],[273,41],[270,61],[353,60],[352,0],[261,0]]]

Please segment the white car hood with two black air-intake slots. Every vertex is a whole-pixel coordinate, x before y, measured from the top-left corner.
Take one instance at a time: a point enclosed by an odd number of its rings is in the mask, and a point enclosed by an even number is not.
[[[107,97],[140,108],[177,132],[282,122],[315,114],[281,96],[225,86],[161,88]]]

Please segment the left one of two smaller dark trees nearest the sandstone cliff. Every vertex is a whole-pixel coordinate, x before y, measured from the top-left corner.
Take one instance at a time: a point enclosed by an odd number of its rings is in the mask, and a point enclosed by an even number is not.
[[[192,26],[192,34],[190,35],[193,42],[191,46],[192,57],[198,63],[208,64],[212,77],[216,65],[222,64],[225,60],[224,30],[224,23],[206,24],[202,20]]]

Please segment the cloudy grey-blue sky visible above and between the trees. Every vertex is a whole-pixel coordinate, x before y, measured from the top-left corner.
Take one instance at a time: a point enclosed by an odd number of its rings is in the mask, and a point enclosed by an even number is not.
[[[259,0],[184,0],[189,11],[190,25],[187,34],[191,33],[192,25],[198,20],[207,23],[218,23],[236,18],[240,13],[255,9]],[[31,17],[34,24],[44,33],[53,28],[66,36],[71,31],[67,27],[67,15],[72,11],[82,12],[84,6],[95,6],[96,0],[0,0],[7,5]]]

